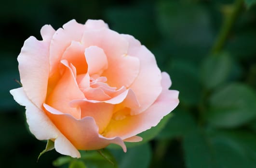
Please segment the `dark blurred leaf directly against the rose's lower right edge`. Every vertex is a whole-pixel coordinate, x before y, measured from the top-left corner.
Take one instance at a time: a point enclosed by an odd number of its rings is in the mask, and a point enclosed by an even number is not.
[[[173,117],[158,134],[158,139],[183,137],[196,128],[196,123],[189,111],[176,109]]]

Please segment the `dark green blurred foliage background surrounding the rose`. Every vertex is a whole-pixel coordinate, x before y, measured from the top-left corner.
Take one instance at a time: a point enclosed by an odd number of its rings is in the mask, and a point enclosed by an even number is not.
[[[51,168],[60,154],[27,129],[17,56],[40,28],[71,19],[103,19],[135,36],[170,74],[180,104],[143,143],[123,154],[108,147],[120,168],[256,168],[256,0],[3,0],[0,5],[0,167]],[[135,146],[132,146],[135,145]],[[112,156],[110,156],[110,154]],[[55,166],[113,167],[94,152],[62,157]],[[107,154],[106,154],[107,155]],[[91,157],[90,157],[91,156]],[[65,160],[66,159],[66,160]],[[77,165],[77,166],[76,166]]]

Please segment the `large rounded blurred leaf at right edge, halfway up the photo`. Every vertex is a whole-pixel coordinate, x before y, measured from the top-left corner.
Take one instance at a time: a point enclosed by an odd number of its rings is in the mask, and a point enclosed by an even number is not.
[[[210,97],[206,120],[216,127],[237,127],[256,118],[255,90],[244,84],[229,84]]]

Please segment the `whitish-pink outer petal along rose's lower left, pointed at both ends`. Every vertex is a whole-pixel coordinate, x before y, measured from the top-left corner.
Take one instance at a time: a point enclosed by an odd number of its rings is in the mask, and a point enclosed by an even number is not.
[[[71,144],[65,136],[54,126],[52,121],[45,115],[44,111],[37,108],[27,98],[23,88],[10,91],[17,103],[26,106],[26,117],[30,132],[39,140],[55,139],[54,147],[57,152],[72,157],[81,157],[79,151]]]

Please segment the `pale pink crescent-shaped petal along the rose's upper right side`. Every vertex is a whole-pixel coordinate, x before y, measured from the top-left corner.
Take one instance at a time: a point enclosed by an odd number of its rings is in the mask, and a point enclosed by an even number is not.
[[[150,107],[162,92],[161,71],[157,66],[154,55],[133,37],[122,35],[129,41],[128,54],[139,58],[140,70],[130,88],[136,93],[139,108],[132,109],[139,114]]]

